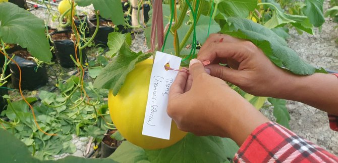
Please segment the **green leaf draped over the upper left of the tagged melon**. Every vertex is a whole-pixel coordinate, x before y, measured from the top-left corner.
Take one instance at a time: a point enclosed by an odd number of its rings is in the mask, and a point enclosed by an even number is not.
[[[151,54],[131,51],[129,48],[130,38],[130,35],[126,35],[126,41],[121,46],[119,54],[102,69],[94,81],[94,87],[112,89],[112,94],[117,95],[127,74],[135,68],[135,64],[150,57]],[[110,39],[112,38],[110,37]]]

